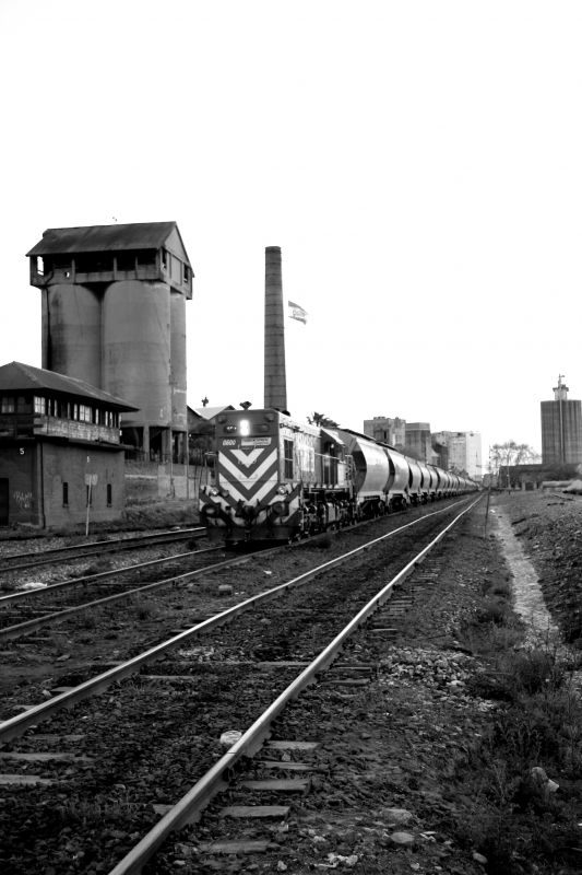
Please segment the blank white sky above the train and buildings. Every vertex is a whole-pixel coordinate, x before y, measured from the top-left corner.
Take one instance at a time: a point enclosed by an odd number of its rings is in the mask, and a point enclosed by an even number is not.
[[[45,229],[175,220],[190,406],[262,406],[281,246],[292,413],[541,450],[582,397],[581,45],[578,0],[0,0],[0,363],[40,366]]]

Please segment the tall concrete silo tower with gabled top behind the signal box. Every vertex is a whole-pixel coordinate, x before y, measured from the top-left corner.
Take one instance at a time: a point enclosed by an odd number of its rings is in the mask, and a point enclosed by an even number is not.
[[[123,416],[123,442],[181,460],[193,273],[176,222],[54,228],[27,255],[43,293],[43,368],[138,407]]]

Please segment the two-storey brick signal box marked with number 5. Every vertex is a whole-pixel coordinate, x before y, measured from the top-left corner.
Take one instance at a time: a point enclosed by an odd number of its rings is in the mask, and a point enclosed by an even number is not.
[[[120,517],[124,400],[81,380],[0,368],[0,525],[55,527]]]

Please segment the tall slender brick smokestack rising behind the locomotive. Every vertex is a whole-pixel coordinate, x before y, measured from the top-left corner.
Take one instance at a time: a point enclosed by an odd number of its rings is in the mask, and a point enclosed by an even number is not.
[[[281,247],[264,250],[264,406],[287,409]]]

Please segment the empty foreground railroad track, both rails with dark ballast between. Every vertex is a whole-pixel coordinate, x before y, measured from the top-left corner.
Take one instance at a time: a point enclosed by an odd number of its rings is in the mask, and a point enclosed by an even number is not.
[[[466,509],[472,506],[463,504]],[[59,798],[69,797],[75,800],[75,810],[85,813],[86,828],[79,840],[71,829],[67,843],[85,863],[97,853],[97,847],[103,845],[104,810],[115,812],[118,826],[114,830],[117,841],[114,836],[109,842],[109,856],[120,859],[129,835],[145,832],[152,827],[138,850],[114,870],[116,875],[141,871],[171,830],[199,816],[224,785],[226,773],[234,765],[261,746],[272,731],[272,721],[336,658],[338,650],[356,629],[390,597],[436,539],[444,536],[449,524],[436,534],[436,521],[442,518],[442,514],[450,517],[451,513],[451,509],[427,513],[396,532],[363,542],[346,555],[245,599],[134,660],[102,673],[92,681],[62,691],[0,724],[3,760],[19,767],[14,767],[14,772],[7,772],[7,792],[2,793],[4,803],[8,798],[12,802],[11,816],[2,824],[10,837],[9,849],[15,849],[16,837],[22,847],[23,830],[26,832],[25,828],[19,829],[16,821],[22,822],[24,818],[26,822],[35,806],[40,806],[44,815],[50,813],[48,820],[52,821],[45,825],[50,828],[43,838],[43,848],[47,853],[50,848],[48,856],[58,860],[58,843],[55,845],[49,836],[55,818],[61,828],[63,822],[75,819],[72,809],[58,803]],[[418,552],[420,532],[427,544]],[[403,537],[408,542],[396,548]],[[371,549],[380,551],[380,570],[368,580],[359,581],[356,587],[357,564]],[[349,571],[344,572],[346,562]],[[284,594],[285,598],[273,600]],[[236,620],[236,626],[226,627],[229,620]],[[332,643],[320,653],[322,642],[330,639]],[[115,688],[106,696],[88,701],[90,696],[103,693],[114,684]],[[221,690],[218,701],[217,689]],[[245,697],[241,690],[246,691]],[[61,709],[81,701],[81,710],[76,708],[63,714]],[[36,727],[48,718],[51,718],[50,733],[43,734]],[[122,752],[111,752],[109,739],[121,720],[126,742]],[[247,726],[250,728],[240,740],[221,757],[221,728],[245,730]],[[156,742],[162,739],[166,746],[158,749]],[[285,749],[284,746],[271,748],[270,756],[274,756],[275,750],[281,756]],[[269,765],[274,761],[270,756],[261,760],[268,762],[264,768],[282,769],[281,765]],[[138,761],[144,759],[138,767]],[[191,765],[185,768],[185,763],[192,761],[197,763],[194,771]],[[122,762],[124,771],[120,768]],[[38,763],[41,763],[39,769]],[[284,770],[293,771],[292,767]],[[307,767],[305,770],[309,771]],[[19,775],[25,779],[22,783],[19,783]],[[197,779],[194,790],[186,793],[177,808],[173,807],[157,822],[162,809],[153,805],[170,805]],[[146,790],[143,790],[144,784],[147,784]],[[24,793],[23,788],[26,788]],[[251,792],[257,790],[256,785],[250,788]],[[36,812],[38,815],[38,808]],[[43,821],[46,819],[44,817]],[[99,821],[99,840],[96,821]],[[131,827],[127,826],[130,821]],[[120,822],[126,825],[121,830]],[[38,829],[37,826],[36,839]],[[45,835],[43,827],[40,832]],[[107,830],[105,832],[107,835]],[[33,837],[29,839],[33,841]],[[40,858],[45,868],[34,868],[33,860],[27,859],[29,867],[20,871],[45,872],[51,865],[47,853]]]

